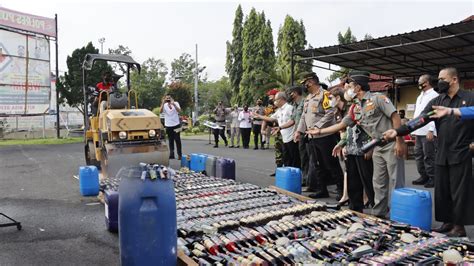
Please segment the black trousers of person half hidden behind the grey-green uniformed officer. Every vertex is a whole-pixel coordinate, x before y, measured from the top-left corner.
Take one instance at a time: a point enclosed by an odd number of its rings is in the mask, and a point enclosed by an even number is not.
[[[374,205],[374,187],[372,176],[374,164],[372,159],[365,160],[364,156],[347,155],[347,194],[349,195],[349,209],[362,212],[364,210],[364,190],[369,203]]]

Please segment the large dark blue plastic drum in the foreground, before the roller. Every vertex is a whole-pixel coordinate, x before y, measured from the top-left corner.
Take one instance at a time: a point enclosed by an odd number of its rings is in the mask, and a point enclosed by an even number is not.
[[[145,172],[145,178],[142,173]],[[176,265],[174,184],[150,179],[142,167],[122,168],[119,189],[121,265]]]

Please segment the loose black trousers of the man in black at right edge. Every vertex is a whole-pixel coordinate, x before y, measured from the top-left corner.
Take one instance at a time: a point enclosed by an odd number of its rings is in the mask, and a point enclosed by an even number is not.
[[[472,161],[435,166],[435,218],[456,225],[474,224]]]

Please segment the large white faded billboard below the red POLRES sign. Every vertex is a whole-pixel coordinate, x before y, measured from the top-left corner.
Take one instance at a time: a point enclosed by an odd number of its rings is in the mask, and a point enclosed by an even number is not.
[[[49,41],[0,30],[0,114],[48,112],[50,96]]]

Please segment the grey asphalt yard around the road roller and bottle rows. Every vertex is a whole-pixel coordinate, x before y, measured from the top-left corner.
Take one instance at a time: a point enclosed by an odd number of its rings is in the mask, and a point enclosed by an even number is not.
[[[239,181],[273,184],[273,150],[214,149],[207,143],[207,138],[184,140],[183,152],[234,158]],[[82,144],[0,147],[0,212],[23,225],[22,231],[0,228],[0,265],[119,263],[118,236],[106,231],[103,206],[94,197],[81,197],[73,178],[83,163]],[[411,184],[413,161],[406,171]]]

